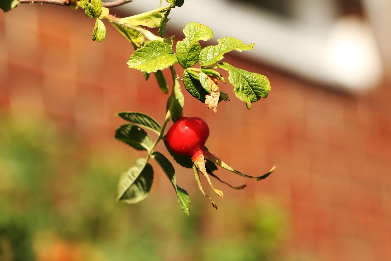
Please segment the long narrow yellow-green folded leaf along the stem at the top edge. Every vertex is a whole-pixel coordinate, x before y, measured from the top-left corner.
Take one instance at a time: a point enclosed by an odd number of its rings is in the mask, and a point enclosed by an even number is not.
[[[170,12],[170,9],[170,5],[167,5],[146,13],[120,18],[118,22],[122,25],[142,25],[150,28],[161,27],[161,25],[165,23],[168,15],[167,13]]]

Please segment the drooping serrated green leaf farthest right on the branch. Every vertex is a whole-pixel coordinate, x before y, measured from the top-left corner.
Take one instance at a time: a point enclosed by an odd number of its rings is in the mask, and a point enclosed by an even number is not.
[[[228,71],[228,81],[234,86],[233,92],[241,101],[246,102],[248,109],[252,102],[261,97],[266,98],[271,91],[270,82],[264,75],[238,69],[228,63],[219,63],[217,66]]]

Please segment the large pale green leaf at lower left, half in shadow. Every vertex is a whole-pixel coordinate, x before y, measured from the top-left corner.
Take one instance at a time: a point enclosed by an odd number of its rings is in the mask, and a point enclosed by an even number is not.
[[[152,166],[146,159],[139,158],[129,170],[124,172],[118,182],[117,201],[135,204],[147,198],[153,181]]]

